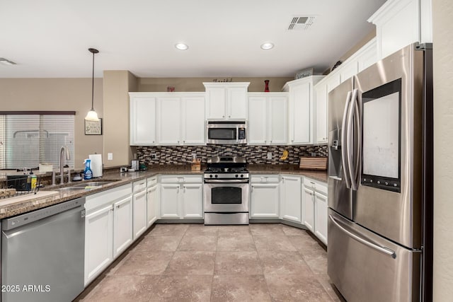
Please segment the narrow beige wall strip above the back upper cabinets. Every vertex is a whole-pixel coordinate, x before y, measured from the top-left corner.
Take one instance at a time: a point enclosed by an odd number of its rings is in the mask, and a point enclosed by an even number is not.
[[[269,90],[272,92],[282,91],[283,85],[287,81],[294,80],[294,77],[282,78],[141,78],[139,79],[139,92],[161,92],[167,91],[167,86],[173,86],[175,91],[205,91],[203,82],[212,82],[213,79],[222,81],[224,79],[233,79],[234,82],[250,82],[248,91],[260,92],[264,91],[264,80],[269,80]]]

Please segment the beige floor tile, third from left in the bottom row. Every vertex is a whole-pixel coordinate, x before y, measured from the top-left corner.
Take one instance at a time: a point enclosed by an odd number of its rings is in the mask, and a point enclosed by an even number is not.
[[[263,275],[215,275],[211,301],[272,301]]]

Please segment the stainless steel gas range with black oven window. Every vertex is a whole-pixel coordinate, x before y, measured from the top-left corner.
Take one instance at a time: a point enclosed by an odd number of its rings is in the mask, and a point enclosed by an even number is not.
[[[246,158],[208,158],[205,181],[205,224],[248,224],[249,178]]]

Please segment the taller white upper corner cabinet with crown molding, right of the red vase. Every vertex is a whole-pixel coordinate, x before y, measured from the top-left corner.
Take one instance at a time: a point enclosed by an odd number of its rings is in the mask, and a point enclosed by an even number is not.
[[[289,81],[283,90],[289,93],[289,144],[314,142],[314,85],[324,76],[309,76]]]

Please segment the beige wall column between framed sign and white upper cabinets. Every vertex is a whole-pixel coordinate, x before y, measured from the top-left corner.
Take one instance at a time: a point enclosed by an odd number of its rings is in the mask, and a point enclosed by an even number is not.
[[[129,71],[104,71],[104,167],[130,165],[129,91],[137,91],[138,81]],[[113,153],[113,160],[108,160]]]

